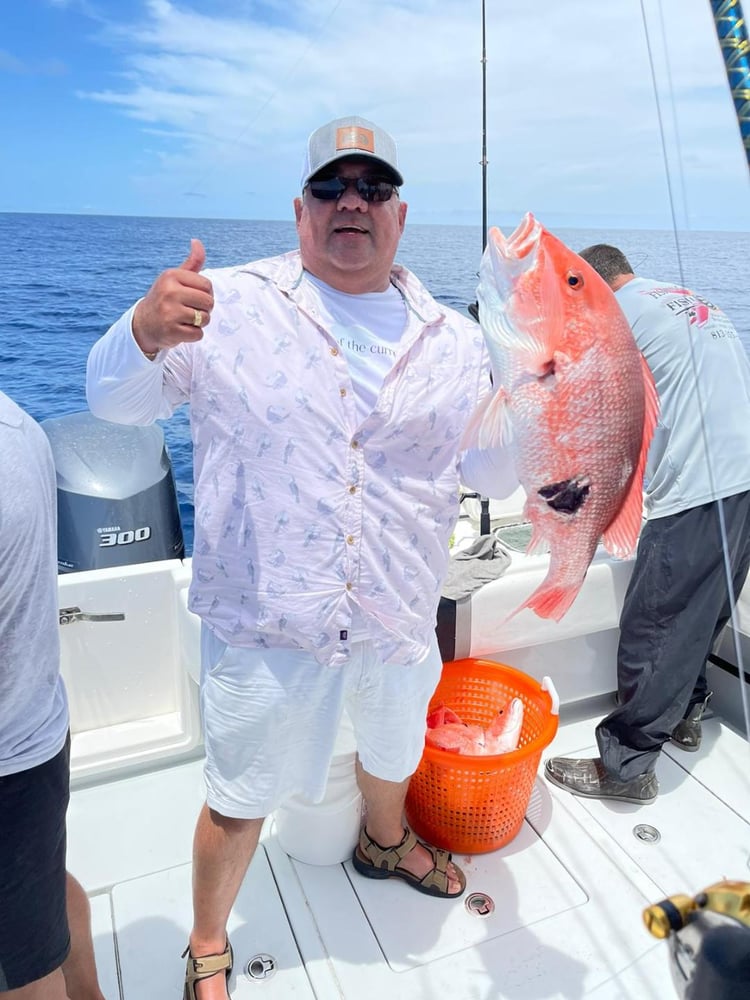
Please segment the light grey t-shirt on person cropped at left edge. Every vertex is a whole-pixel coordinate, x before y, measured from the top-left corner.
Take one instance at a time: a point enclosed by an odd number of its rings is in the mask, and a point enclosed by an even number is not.
[[[47,437],[0,392],[0,776],[50,760],[68,731],[56,505]]]

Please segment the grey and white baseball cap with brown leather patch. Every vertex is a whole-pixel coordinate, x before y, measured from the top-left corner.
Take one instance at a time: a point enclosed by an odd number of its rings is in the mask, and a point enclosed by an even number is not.
[[[336,118],[316,129],[307,140],[302,167],[302,187],[323,167],[350,156],[365,156],[385,168],[386,176],[398,187],[404,183],[398,169],[396,143],[385,129],[356,115]]]

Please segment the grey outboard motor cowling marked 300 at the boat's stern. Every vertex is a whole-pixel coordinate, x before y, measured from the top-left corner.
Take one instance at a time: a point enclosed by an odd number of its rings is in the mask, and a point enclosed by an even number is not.
[[[53,417],[42,427],[57,470],[61,573],[184,557],[161,427],[112,424],[88,412]]]

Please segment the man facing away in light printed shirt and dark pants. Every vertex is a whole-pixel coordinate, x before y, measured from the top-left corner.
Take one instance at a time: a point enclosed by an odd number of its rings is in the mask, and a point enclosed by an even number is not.
[[[663,744],[700,745],[706,659],[750,566],[750,364],[707,299],[636,277],[616,247],[581,257],[615,292],[661,409],[620,620],[619,704],[597,727],[600,757],[552,758],[545,774],[575,795],[650,802]]]

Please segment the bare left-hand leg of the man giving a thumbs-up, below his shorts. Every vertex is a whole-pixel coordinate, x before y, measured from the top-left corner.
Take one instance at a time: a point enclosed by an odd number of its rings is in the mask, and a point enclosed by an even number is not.
[[[240,891],[263,819],[230,819],[201,809],[193,841],[193,930],[190,954],[220,955],[226,948],[227,921]],[[195,984],[198,1000],[226,1000],[226,976],[219,973]]]

